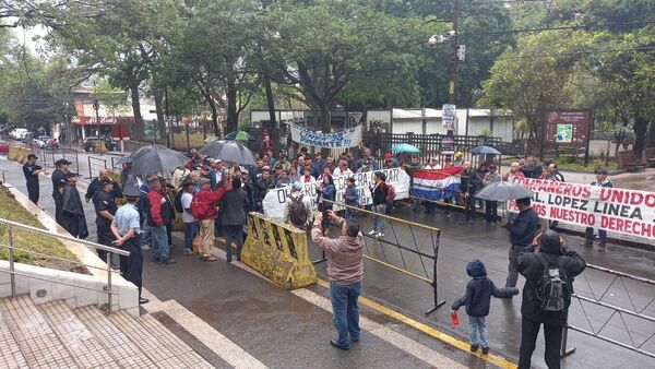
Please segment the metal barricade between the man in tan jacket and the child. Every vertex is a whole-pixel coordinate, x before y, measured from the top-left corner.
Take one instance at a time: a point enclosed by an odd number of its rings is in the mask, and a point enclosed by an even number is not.
[[[433,295],[433,306],[426,311],[429,314],[440,308],[445,300],[439,300],[437,263],[439,260],[439,239],[441,229],[427,225],[396,218],[385,214],[373,213],[366,209],[354,207],[340,202],[322,200],[332,203],[337,212],[359,218],[360,229],[365,237],[373,242],[366,242],[364,258],[412,278],[430,285]],[[346,216],[346,217],[348,217]],[[385,236],[377,237],[366,234],[376,217],[386,224]],[[364,218],[364,219],[362,219]],[[331,226],[336,227],[331,224]],[[320,263],[323,258],[313,261]]]

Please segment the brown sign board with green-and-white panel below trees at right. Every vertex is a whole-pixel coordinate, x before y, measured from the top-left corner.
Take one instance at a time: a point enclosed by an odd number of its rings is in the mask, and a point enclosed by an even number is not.
[[[546,112],[545,143],[586,145],[590,139],[588,132],[588,111],[562,110]]]

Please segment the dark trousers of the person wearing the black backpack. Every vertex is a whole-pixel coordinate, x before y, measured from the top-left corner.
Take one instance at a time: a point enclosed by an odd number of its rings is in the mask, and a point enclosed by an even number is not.
[[[521,350],[519,352],[519,369],[529,369],[532,354],[535,350],[537,335],[541,323],[526,319],[521,320]],[[562,326],[544,324],[546,352],[544,358],[548,369],[560,368],[560,349],[562,345]]]

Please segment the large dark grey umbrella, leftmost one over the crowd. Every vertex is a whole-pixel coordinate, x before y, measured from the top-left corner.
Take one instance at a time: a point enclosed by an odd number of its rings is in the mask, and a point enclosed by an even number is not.
[[[130,157],[132,158],[132,168],[130,169],[132,175],[163,172],[189,162],[187,155],[162,145],[141,147]]]

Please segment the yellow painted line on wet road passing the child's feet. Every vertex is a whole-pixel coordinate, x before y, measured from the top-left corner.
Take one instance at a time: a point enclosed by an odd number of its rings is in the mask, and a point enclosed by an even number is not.
[[[326,282],[326,281],[323,281],[323,279],[319,279],[319,286],[324,287],[324,288],[330,288],[330,283]],[[382,306],[382,305],[380,305],[380,303],[378,303],[378,302],[376,302],[373,300],[370,300],[370,299],[368,299],[366,297],[360,296],[359,297],[359,301],[364,306],[367,306],[367,307],[369,307],[369,308],[371,308],[371,309],[373,309],[373,310],[376,310],[378,312],[381,312],[381,313],[383,313],[383,314],[385,314],[388,317],[391,317],[391,318],[393,318],[395,320],[398,320],[398,321],[401,321],[401,322],[403,322],[403,323],[405,323],[405,324],[407,324],[407,325],[409,325],[409,326],[412,326],[412,328],[414,328],[414,329],[416,329],[416,330],[418,330],[418,331],[420,331],[420,332],[422,332],[422,333],[425,333],[425,334],[427,334],[429,336],[432,336],[432,337],[434,337],[434,338],[437,338],[437,340],[439,340],[441,342],[444,342],[444,343],[446,343],[446,344],[449,344],[451,346],[454,346],[454,347],[456,347],[456,348],[458,348],[458,349],[461,349],[463,352],[466,352],[469,355],[477,356],[477,357],[479,357],[479,358],[481,358],[481,359],[484,359],[486,361],[489,361],[489,362],[491,362],[491,364],[493,364],[493,365],[496,365],[496,366],[498,366],[500,368],[503,368],[503,369],[515,369],[516,368],[516,365],[514,362],[512,362],[512,361],[510,361],[510,360],[508,360],[508,359],[505,359],[505,358],[503,358],[501,356],[498,356],[498,355],[495,355],[495,354],[483,355],[480,352],[472,353],[469,350],[469,348],[471,348],[471,344],[469,343],[461,341],[461,340],[457,340],[457,338],[455,338],[455,337],[453,337],[451,335],[448,335],[448,334],[445,334],[443,332],[440,332],[440,331],[433,329],[430,325],[427,325],[427,324],[421,323],[421,322],[419,322],[419,321],[417,321],[415,319],[412,319],[412,318],[409,318],[407,316],[404,316],[404,314],[402,314],[402,313],[400,313],[400,312],[397,312],[397,311],[395,311],[393,309],[390,309],[390,308],[388,308],[385,306]]]

